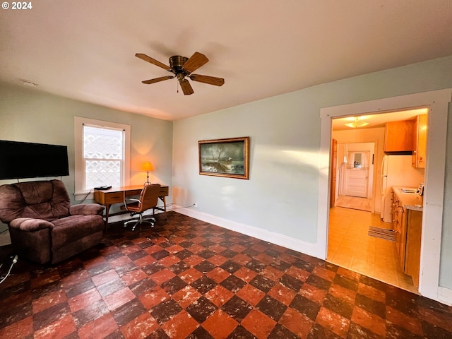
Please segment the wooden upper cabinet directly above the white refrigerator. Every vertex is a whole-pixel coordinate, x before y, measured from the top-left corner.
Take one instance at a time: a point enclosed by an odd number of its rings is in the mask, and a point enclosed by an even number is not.
[[[413,150],[413,124],[412,119],[386,122],[384,151],[411,152]]]

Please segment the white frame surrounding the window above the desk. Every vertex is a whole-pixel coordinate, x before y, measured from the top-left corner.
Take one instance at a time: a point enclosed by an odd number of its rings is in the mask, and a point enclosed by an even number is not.
[[[129,186],[130,184],[130,131],[131,126],[126,124],[118,124],[111,121],[103,121],[96,119],[88,119],[85,117],[74,117],[74,151],[75,151],[75,198],[80,201],[83,198],[93,198],[93,194],[89,190],[83,189],[85,182],[85,172],[83,166],[83,125],[93,127],[105,127],[107,129],[117,129],[124,131],[124,162],[121,173],[121,186]]]

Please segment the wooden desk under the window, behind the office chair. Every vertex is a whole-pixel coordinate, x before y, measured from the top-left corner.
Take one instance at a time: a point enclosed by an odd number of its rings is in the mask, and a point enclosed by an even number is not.
[[[143,189],[142,185],[138,186],[122,186],[122,187],[112,187],[105,191],[94,191],[94,200],[96,203],[105,206],[105,225],[108,225],[108,217],[110,206],[114,203],[124,203],[124,198],[126,196],[136,196],[141,194]],[[167,202],[166,196],[168,196],[168,186],[160,187],[159,198],[163,201],[163,208],[157,208],[165,212],[165,219],[167,218]]]

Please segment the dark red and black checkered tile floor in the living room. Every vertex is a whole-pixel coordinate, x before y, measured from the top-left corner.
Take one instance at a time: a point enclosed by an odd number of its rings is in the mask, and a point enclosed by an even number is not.
[[[19,260],[0,285],[0,338],[452,338],[451,307],[179,213],[157,219],[112,225],[57,266]]]

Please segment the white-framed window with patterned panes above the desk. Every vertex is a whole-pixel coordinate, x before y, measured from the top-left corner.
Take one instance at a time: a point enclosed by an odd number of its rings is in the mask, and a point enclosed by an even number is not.
[[[75,127],[76,195],[128,185],[130,126],[76,117]]]

